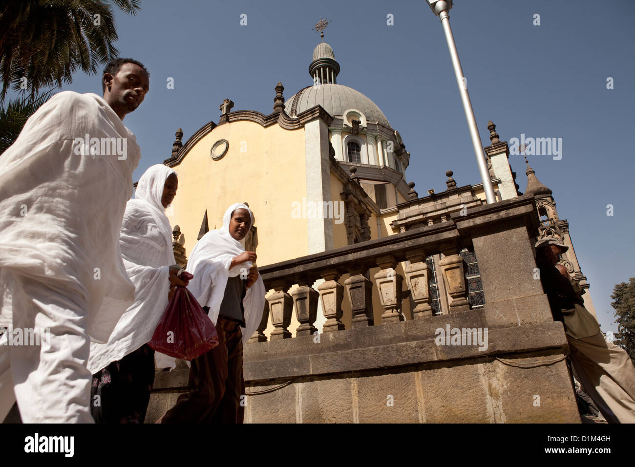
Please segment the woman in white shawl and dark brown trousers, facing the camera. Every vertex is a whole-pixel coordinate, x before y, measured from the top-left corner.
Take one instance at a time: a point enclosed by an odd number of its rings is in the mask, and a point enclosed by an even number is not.
[[[206,233],[192,250],[187,271],[194,278],[188,288],[208,308],[218,346],[192,360],[189,392],[179,396],[161,423],[243,423],[243,345],[257,329],[265,304],[256,254],[244,250],[252,224],[247,205],[231,205],[220,230]]]

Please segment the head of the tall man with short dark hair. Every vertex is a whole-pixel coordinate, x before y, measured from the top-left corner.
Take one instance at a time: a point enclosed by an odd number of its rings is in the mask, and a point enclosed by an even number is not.
[[[123,118],[144,102],[150,79],[142,67],[127,63],[121,65],[115,76],[104,74],[106,90],[104,99]]]

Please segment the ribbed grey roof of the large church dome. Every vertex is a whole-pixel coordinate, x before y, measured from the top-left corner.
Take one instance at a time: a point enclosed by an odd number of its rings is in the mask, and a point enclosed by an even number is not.
[[[321,45],[326,45],[330,49],[328,44],[319,44],[316,51]],[[315,57],[315,52],[313,56]],[[366,116],[368,123],[378,122],[392,128],[384,112],[375,102],[349,86],[331,84],[307,86],[284,102],[284,110],[293,117],[316,105],[324,107],[324,110],[333,117],[342,117],[348,109],[357,109]]]

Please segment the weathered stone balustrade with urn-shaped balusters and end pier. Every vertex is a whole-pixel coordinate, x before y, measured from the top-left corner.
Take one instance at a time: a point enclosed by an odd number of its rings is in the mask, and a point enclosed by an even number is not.
[[[260,267],[265,288],[274,290],[267,296],[265,304],[265,314],[268,311],[274,326],[271,340],[291,337],[288,327],[294,309],[300,323],[295,335],[314,334],[319,302],[326,318],[323,332],[344,330],[344,300],[349,302],[352,310],[352,328],[403,321],[404,282],[415,304],[413,319],[432,316],[430,271],[425,262],[431,254],[443,254],[438,268],[450,297],[449,313],[469,311],[465,262],[459,254],[464,247],[473,248],[479,259],[486,301],[499,301],[495,291],[500,288],[500,282],[509,286],[512,277],[524,284],[519,290],[531,289],[526,290],[529,295],[542,293],[540,284],[532,280],[528,272],[533,271],[535,264],[527,231],[535,231],[538,227],[532,199],[524,196],[495,205],[474,206],[465,210],[464,215],[451,213],[449,219],[440,224],[420,226],[377,240]],[[518,243],[511,242],[512,239]],[[500,255],[501,252],[505,254]],[[523,262],[514,259],[514,271],[509,276],[497,272],[497,269],[510,269],[509,260],[516,257]],[[405,264],[403,275],[398,272],[401,262]],[[379,271],[371,277],[370,269],[377,267]],[[519,271],[523,271],[520,276]],[[349,277],[340,281],[344,275]],[[324,281],[316,290],[311,284],[319,279]],[[298,287],[288,293],[293,285]],[[377,288],[384,309],[380,323],[373,320],[373,287]],[[513,290],[511,287],[505,289]],[[264,318],[249,342],[265,341],[266,325]]]

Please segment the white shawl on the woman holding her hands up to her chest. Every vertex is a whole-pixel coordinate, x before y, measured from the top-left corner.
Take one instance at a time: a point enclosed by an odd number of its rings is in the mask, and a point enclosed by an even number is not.
[[[245,209],[251,217],[253,214],[248,206],[236,203],[229,206],[223,217],[223,226],[218,230],[212,230],[203,235],[194,246],[192,254],[187,261],[187,272],[194,274],[190,280],[189,288],[201,306],[209,306],[211,321],[216,324],[220,313],[220,304],[225,296],[227,279],[241,274],[241,270],[248,271],[251,262],[237,264],[229,269],[232,259],[244,252],[244,239],[237,241],[229,234],[229,221],[232,213],[237,209]],[[250,224],[250,227],[251,227]],[[243,344],[250,339],[262,319],[262,311],[265,305],[265,285],[260,275],[258,280],[247,289],[243,299],[244,322]]]

